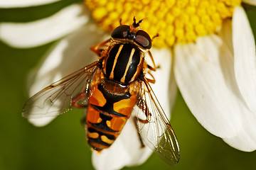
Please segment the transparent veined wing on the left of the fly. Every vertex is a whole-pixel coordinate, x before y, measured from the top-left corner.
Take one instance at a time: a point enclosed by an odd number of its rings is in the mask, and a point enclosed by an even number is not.
[[[74,99],[85,101],[90,92],[88,85],[92,75],[99,68],[98,65],[99,61],[93,62],[39,91],[26,102],[23,107],[23,117],[55,117],[69,111],[76,102]]]

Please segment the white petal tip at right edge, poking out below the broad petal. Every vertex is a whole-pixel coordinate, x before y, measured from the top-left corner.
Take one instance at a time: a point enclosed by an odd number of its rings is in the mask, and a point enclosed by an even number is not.
[[[256,149],[256,115],[248,110],[242,112],[242,129],[232,138],[223,139],[230,146],[245,152]]]

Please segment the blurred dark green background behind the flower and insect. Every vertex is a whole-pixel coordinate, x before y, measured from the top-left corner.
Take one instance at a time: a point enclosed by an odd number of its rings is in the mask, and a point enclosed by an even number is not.
[[[33,21],[50,16],[77,1],[32,8],[0,8],[0,22]],[[256,10],[247,14],[256,35]],[[0,169],[93,169],[91,151],[80,124],[82,111],[55,118],[50,125],[35,128],[21,117],[26,96],[26,76],[53,45],[14,49],[0,42]],[[193,117],[178,94],[171,118],[181,147],[177,166],[165,164],[156,154],[141,166],[124,169],[255,169],[256,152],[240,152],[207,132]]]

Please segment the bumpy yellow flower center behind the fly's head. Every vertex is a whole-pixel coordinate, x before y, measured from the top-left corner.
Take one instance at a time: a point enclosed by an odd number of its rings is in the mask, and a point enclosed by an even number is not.
[[[198,36],[215,33],[223,20],[231,18],[240,0],[85,0],[92,17],[105,30],[130,25],[135,16],[155,47],[194,42]]]

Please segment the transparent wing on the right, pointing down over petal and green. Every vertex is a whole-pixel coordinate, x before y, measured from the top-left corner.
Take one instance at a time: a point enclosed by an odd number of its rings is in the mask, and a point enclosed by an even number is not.
[[[180,157],[178,140],[149,82],[142,81],[137,128],[143,142],[166,163],[175,165]]]

